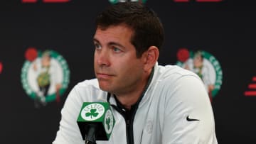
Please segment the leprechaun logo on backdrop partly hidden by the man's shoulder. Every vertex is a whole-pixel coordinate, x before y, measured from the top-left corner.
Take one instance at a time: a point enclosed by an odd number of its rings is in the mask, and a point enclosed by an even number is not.
[[[195,52],[181,48],[177,52],[177,65],[198,74],[203,80],[206,90],[212,99],[222,84],[223,72],[218,60],[209,52],[197,50]]]

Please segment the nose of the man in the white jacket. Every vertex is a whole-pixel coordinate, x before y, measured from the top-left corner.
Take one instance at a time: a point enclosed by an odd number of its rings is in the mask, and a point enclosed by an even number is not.
[[[110,66],[110,55],[108,55],[107,50],[95,50],[95,62],[100,67]]]

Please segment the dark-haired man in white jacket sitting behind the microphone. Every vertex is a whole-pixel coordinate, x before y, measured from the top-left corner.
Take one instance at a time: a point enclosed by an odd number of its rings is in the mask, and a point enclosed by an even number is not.
[[[95,76],[65,101],[54,144],[85,143],[76,120],[85,101],[107,101],[116,123],[97,144],[217,143],[203,82],[176,66],[157,64],[164,28],[154,11],[136,2],[108,7],[96,19]]]

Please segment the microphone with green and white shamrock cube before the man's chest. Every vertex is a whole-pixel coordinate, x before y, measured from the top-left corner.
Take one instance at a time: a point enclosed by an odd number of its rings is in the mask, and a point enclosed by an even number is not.
[[[86,144],[96,144],[96,140],[109,140],[115,123],[107,102],[84,102],[77,122]]]

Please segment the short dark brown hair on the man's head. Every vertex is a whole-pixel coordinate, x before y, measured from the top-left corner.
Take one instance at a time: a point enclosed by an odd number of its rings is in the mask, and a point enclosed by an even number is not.
[[[96,28],[105,29],[109,26],[124,24],[134,33],[131,43],[137,51],[137,57],[150,46],[161,48],[164,43],[164,28],[156,13],[139,2],[120,2],[108,6],[96,18]]]

